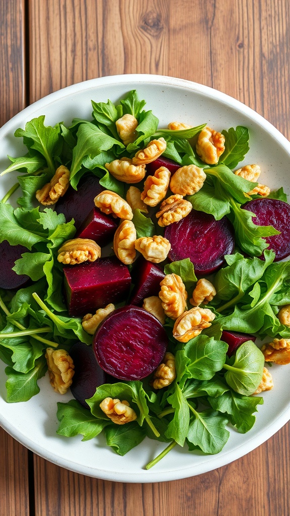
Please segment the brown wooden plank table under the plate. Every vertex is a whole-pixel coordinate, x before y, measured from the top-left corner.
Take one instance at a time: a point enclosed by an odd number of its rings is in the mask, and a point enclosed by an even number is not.
[[[70,84],[152,73],[228,93],[290,136],[288,0],[2,0],[0,24],[0,125]],[[71,473],[0,429],[0,516],[288,516],[289,438],[287,424],[218,470],[142,485]]]

